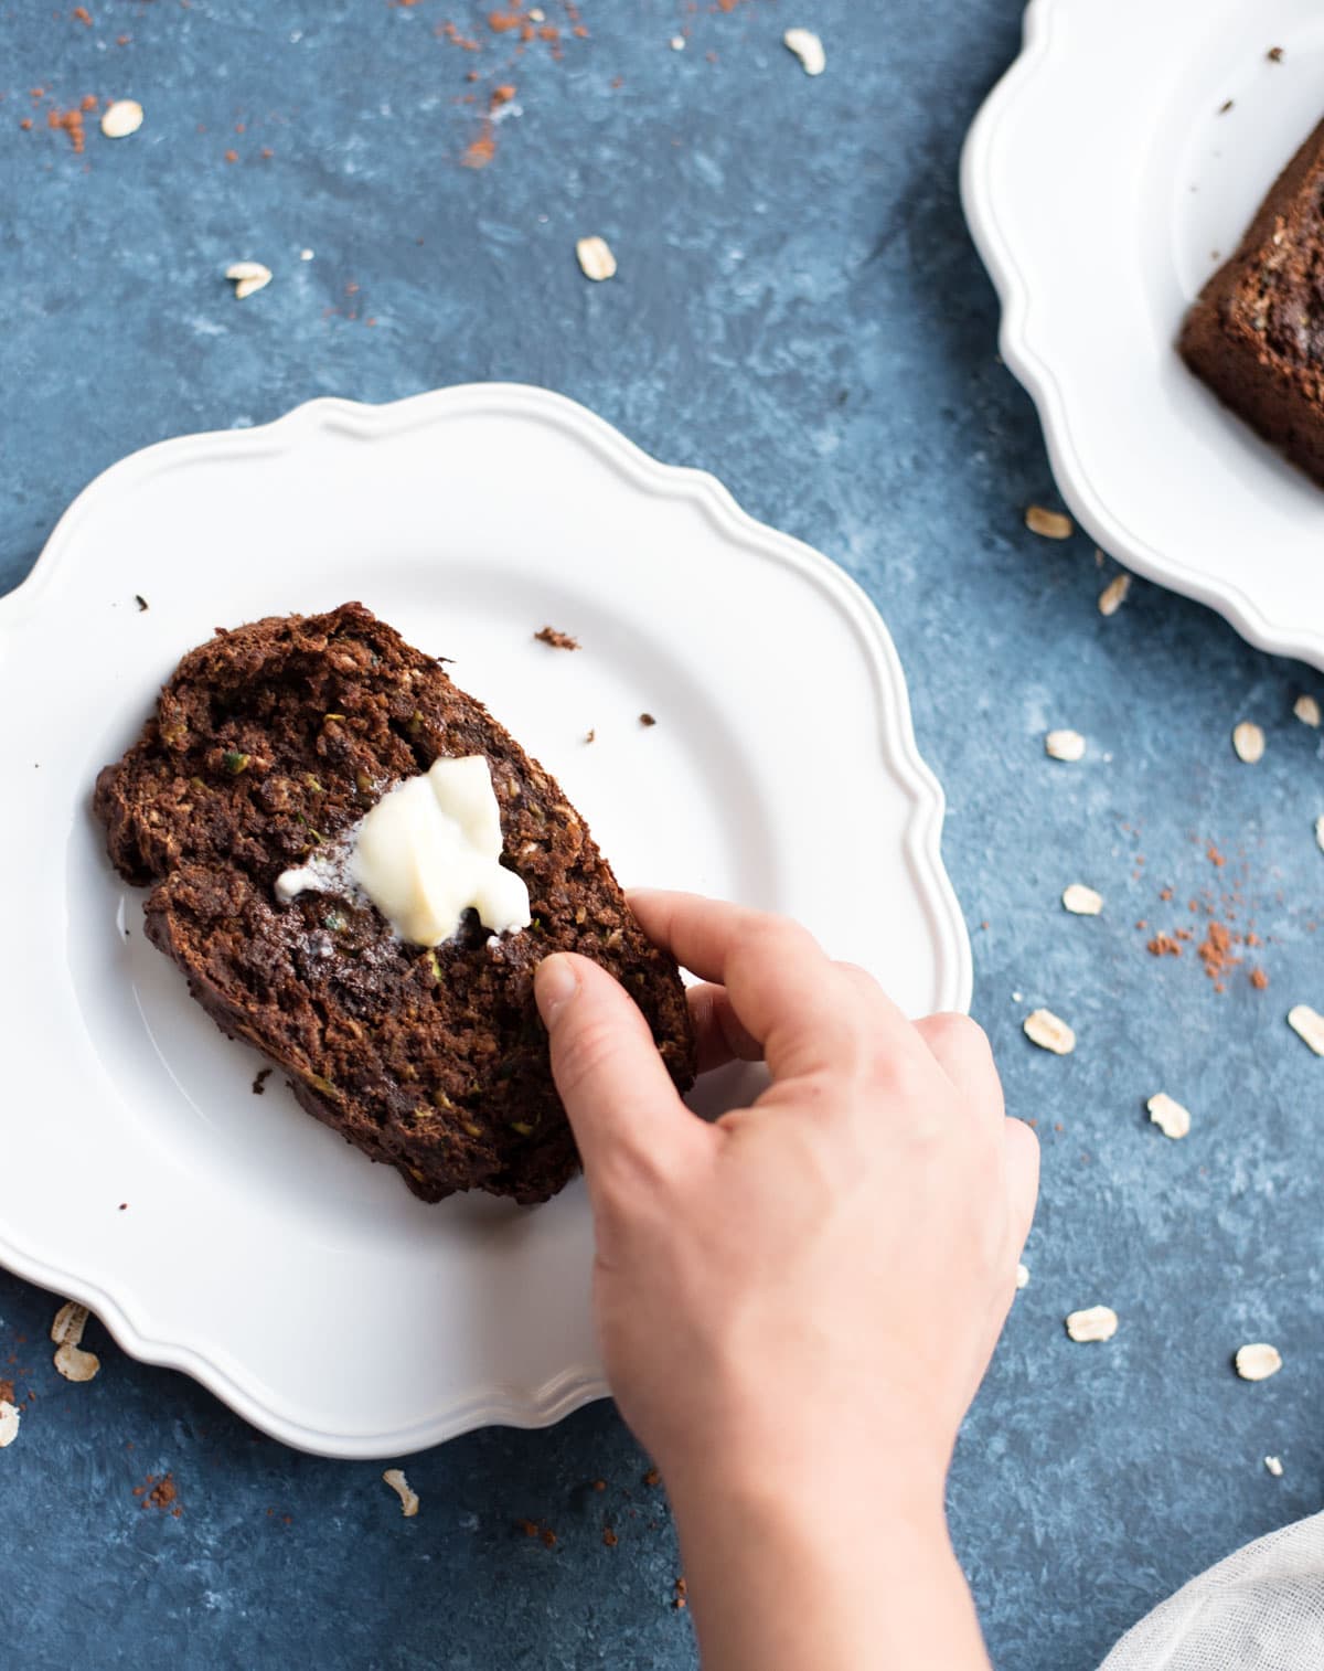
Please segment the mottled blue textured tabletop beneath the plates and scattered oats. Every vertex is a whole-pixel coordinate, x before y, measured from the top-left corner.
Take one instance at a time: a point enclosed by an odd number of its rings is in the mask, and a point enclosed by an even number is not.
[[[543,3],[564,33],[561,0]],[[1321,744],[1291,715],[1324,678],[1139,582],[1104,620],[1112,565],[1022,528],[1052,483],[955,194],[1018,0],[893,0],[885,17],[584,0],[591,33],[559,58],[548,42],[516,55],[469,0],[90,12],[0,7],[0,588],[114,460],[324,393],[546,383],[716,471],[857,575],[892,627],[950,797],[975,1011],[1045,1140],[1033,1278],[952,1482],[997,1663],[1085,1671],[1182,1579],[1316,1509],[1324,1063],[1284,1014],[1324,1008]],[[447,17],[481,52],[436,33]],[[823,35],[821,79],[781,48],[788,23]],[[461,167],[508,82],[491,165]],[[93,117],[77,155],[35,87],[60,107],[137,97],[147,120],[110,144]],[[621,262],[598,287],[573,256],[591,231]],[[244,304],[220,277],[240,256],[275,271]],[[222,600],[219,580],[219,618]],[[1242,717],[1267,732],[1257,767],[1229,745]],[[1044,757],[1050,725],[1090,739],[1080,765]],[[1104,892],[1102,917],[1062,912],[1070,881]],[[1217,993],[1192,944],[1144,951],[1134,924],[1185,922],[1205,889],[1219,911],[1239,896],[1236,927],[1254,914],[1267,991],[1242,968]],[[1075,1056],[1020,1036],[1038,1003],[1075,1024]],[[1185,1143],[1145,1121],[1160,1086],[1194,1110]],[[1072,1345],[1064,1315],[1095,1302],[1119,1310],[1117,1338]],[[379,1467],[255,1437],[95,1323],[102,1374],[67,1385],[53,1303],[0,1277],[0,1377],[35,1399],[0,1454],[5,1664],[693,1664],[666,1507],[608,1405],[411,1460],[422,1511],[402,1521]],[[1252,1338],[1287,1360],[1262,1385],[1229,1367]],[[167,1469],[179,1517],[132,1494]]]

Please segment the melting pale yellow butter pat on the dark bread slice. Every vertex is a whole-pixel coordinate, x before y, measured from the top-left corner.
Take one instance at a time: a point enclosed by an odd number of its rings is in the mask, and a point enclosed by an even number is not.
[[[481,754],[396,784],[347,836],[346,856],[286,871],[277,897],[326,891],[341,871],[414,946],[451,939],[469,909],[496,934],[533,921],[528,887],[501,864],[501,809]]]

